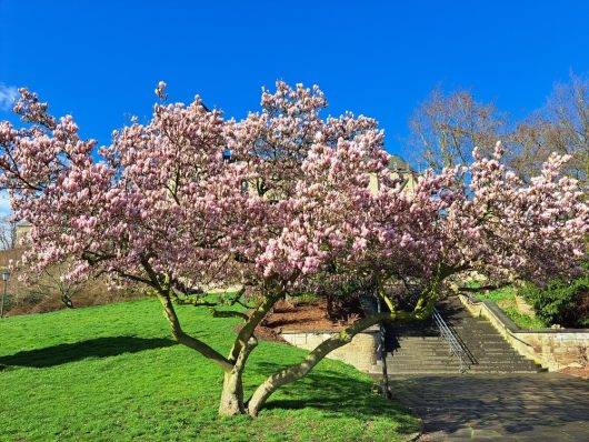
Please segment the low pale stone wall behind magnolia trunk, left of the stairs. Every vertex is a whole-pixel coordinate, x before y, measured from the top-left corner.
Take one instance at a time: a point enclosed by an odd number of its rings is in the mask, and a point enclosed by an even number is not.
[[[377,363],[378,332],[378,327],[371,327],[355,335],[350,343],[333,350],[327,358],[347,362],[360,371],[368,372]],[[336,333],[333,331],[283,330],[280,335],[291,345],[310,351]]]

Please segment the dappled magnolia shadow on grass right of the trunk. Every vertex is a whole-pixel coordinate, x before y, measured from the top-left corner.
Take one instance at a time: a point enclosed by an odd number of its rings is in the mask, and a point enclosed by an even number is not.
[[[273,363],[258,363],[257,366],[264,373],[277,372],[283,365]],[[362,381],[346,376],[332,370],[311,371],[270,396],[266,410],[300,410],[312,408],[326,414],[341,414],[371,420],[386,416],[399,424],[401,433],[415,432],[415,420],[407,409],[398,402],[382,399],[372,391],[371,381]],[[292,399],[290,399],[291,396]]]

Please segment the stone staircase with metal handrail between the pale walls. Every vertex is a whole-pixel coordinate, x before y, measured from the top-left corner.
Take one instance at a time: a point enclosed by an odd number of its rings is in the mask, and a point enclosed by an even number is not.
[[[472,317],[457,299],[447,299],[438,311],[455,332],[463,351],[463,366],[473,373],[533,373],[543,369],[513,350],[483,318]],[[459,373],[460,363],[429,319],[402,325],[387,325],[387,370],[396,374]],[[370,370],[382,373],[381,361]]]

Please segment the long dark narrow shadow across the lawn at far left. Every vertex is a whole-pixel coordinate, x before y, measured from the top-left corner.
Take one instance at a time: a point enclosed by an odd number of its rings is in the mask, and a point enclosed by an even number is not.
[[[71,344],[59,344],[0,356],[0,371],[13,365],[42,369],[80,361],[87,358],[116,356],[122,353],[137,353],[143,350],[161,349],[176,344],[176,341],[159,338],[97,338]]]

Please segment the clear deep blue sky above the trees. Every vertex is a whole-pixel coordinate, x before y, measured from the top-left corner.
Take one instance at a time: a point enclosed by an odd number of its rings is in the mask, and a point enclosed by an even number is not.
[[[0,0],[0,19],[3,90],[38,91],[100,143],[150,114],[159,80],[171,100],[199,93],[236,118],[277,79],[317,83],[330,113],[378,119],[402,153],[439,82],[518,114],[589,73],[589,1]]]

